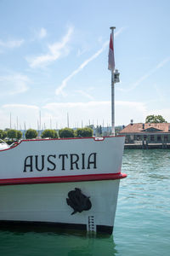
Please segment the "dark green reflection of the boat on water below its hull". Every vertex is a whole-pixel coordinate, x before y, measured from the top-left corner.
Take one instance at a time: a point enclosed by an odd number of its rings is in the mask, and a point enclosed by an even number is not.
[[[2,256],[114,256],[117,253],[113,236],[87,236],[77,231],[72,233],[1,230],[0,252]]]

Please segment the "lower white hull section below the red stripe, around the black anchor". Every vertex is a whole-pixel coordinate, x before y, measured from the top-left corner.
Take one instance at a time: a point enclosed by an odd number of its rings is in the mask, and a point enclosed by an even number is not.
[[[88,211],[71,215],[68,193],[75,188],[90,196]],[[43,183],[0,187],[0,220],[68,224],[89,231],[112,231],[116,213],[119,180],[78,183]],[[93,218],[94,227],[90,226]]]

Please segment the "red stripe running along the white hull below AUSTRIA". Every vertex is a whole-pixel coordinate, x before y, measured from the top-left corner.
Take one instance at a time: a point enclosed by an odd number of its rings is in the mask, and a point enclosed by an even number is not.
[[[127,177],[125,173],[88,174],[59,177],[21,177],[0,179],[0,185],[36,184],[36,183],[72,183],[98,180],[114,180]]]

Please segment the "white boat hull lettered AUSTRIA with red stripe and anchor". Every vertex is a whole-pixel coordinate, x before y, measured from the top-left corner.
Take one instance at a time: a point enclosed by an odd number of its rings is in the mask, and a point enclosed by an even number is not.
[[[0,227],[54,224],[111,234],[124,137],[22,140],[0,150]]]

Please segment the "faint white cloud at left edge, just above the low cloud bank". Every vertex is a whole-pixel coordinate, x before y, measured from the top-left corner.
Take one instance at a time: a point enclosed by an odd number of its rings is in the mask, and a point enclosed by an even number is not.
[[[0,76],[1,96],[24,93],[29,89],[27,85],[29,82],[28,77],[20,73]]]

